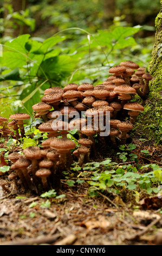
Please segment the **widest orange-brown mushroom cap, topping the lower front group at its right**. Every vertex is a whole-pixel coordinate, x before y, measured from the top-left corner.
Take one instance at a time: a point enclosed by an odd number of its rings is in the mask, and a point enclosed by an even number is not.
[[[70,149],[74,149],[75,148],[75,142],[70,141],[67,138],[57,138],[55,139],[55,141],[52,141],[50,143],[50,147],[52,149],[56,149],[59,151],[63,151],[63,152],[67,152]]]

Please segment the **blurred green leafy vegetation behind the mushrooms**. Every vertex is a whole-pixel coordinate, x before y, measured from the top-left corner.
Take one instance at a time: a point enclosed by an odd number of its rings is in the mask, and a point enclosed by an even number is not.
[[[99,84],[123,60],[147,67],[159,0],[0,0],[1,115],[32,113],[43,90]]]

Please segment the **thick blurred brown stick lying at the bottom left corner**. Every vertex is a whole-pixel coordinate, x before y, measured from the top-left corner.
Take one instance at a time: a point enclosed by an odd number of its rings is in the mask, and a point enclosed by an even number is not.
[[[20,239],[12,242],[2,242],[1,245],[40,245],[41,243],[54,243],[60,234],[55,234],[53,236],[42,236],[31,239]]]

